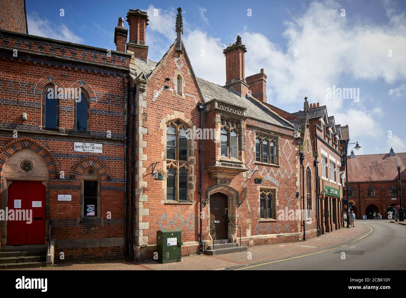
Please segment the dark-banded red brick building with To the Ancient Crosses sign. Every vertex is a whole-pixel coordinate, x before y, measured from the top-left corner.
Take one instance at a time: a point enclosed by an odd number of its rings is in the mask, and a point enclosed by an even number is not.
[[[14,30],[24,13],[4,20],[16,23],[0,31],[0,202],[32,224],[3,218],[1,251],[45,256],[52,231],[56,262],[124,257],[131,55]]]

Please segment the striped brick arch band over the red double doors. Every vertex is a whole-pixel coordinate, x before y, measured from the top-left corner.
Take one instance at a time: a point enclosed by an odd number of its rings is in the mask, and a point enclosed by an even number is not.
[[[2,174],[4,164],[9,157],[11,157],[13,153],[23,148],[29,148],[37,152],[47,164],[50,176],[55,175],[56,178],[59,178],[59,165],[52,152],[45,145],[31,137],[20,137],[18,139],[14,139],[0,148],[0,175]]]

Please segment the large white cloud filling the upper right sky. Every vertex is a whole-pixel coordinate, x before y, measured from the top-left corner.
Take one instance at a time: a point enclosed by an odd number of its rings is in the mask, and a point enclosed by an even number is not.
[[[384,79],[388,83],[406,79],[404,14],[391,11],[388,25],[370,25],[350,22],[341,17],[340,10],[333,1],[312,2],[304,15],[286,23],[285,51],[261,33],[244,32],[243,43],[248,47],[246,74],[264,68],[276,103],[302,101],[307,95],[311,101],[328,103],[333,111],[342,102],[327,101],[326,88],[359,87],[340,86],[343,76]],[[249,47],[258,44],[261,47]],[[392,57],[388,57],[389,49]],[[294,56],[295,50],[298,57]]]

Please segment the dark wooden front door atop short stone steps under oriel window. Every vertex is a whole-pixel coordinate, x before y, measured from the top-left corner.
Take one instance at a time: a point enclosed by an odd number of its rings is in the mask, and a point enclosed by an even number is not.
[[[215,227],[214,239],[228,239],[227,206],[227,195],[214,193],[210,196],[210,221]]]

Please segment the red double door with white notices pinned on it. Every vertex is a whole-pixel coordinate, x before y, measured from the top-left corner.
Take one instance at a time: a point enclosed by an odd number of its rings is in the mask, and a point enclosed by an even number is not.
[[[13,181],[8,191],[8,207],[14,220],[7,221],[7,245],[45,243],[45,185],[41,181]],[[25,210],[25,218],[18,216]],[[24,219],[24,220],[22,220]]]

